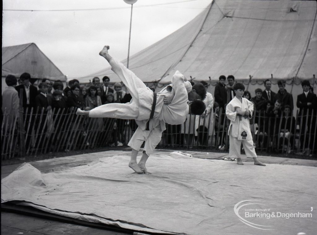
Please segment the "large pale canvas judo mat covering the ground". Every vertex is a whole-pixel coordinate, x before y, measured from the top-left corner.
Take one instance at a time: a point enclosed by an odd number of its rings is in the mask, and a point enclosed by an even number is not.
[[[311,166],[151,155],[152,174],[127,155],[40,172],[23,164],[1,180],[1,202],[128,230],[161,234],[315,234]]]

